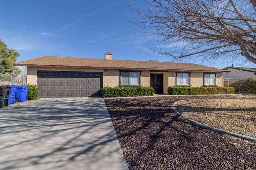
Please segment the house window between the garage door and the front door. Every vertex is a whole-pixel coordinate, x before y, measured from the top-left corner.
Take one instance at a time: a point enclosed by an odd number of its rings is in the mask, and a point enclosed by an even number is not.
[[[140,72],[121,72],[121,85],[140,85]]]

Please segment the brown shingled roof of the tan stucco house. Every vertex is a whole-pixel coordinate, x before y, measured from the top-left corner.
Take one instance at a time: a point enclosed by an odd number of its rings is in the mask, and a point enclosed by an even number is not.
[[[92,58],[52,57],[44,56],[14,63],[15,66],[28,67],[66,67],[87,69],[122,69],[151,71],[196,71],[196,72],[227,72],[221,69],[198,64],[169,63],[156,61],[105,60]]]

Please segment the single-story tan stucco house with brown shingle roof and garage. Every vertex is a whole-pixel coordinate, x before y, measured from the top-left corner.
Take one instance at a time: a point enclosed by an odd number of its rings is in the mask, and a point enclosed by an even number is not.
[[[157,61],[44,56],[15,63],[27,66],[27,83],[37,84],[41,98],[100,95],[102,87],[153,87],[167,94],[168,86],[222,86],[221,69],[197,64]]]

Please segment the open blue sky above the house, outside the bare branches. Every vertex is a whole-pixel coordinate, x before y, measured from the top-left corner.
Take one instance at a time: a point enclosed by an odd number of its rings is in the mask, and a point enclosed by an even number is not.
[[[107,51],[119,60],[170,61],[152,56],[150,38],[134,31],[136,25],[127,20],[137,16],[116,0],[6,0],[1,6],[0,39],[20,53],[18,61],[41,56],[104,58]],[[231,63],[204,65],[224,68]]]

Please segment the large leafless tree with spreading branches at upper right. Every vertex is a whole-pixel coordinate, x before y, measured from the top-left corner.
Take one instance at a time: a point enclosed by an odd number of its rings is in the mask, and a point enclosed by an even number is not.
[[[152,34],[155,54],[174,59],[203,57],[236,59],[241,55],[256,63],[256,0],[143,0],[134,5],[135,19],[145,34]],[[161,44],[161,45],[160,45]]]

